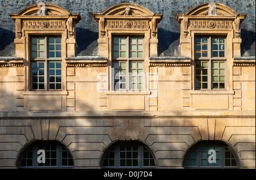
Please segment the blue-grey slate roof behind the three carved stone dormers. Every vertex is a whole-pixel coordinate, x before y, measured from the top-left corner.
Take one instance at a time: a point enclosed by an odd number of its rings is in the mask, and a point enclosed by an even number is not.
[[[93,13],[102,12],[117,3],[137,3],[154,13],[162,13],[163,20],[158,25],[158,56],[180,56],[180,24],[176,22],[177,13],[185,13],[192,7],[209,0],[0,0],[0,57],[15,55],[15,24],[9,13],[16,13],[23,8],[38,2],[51,3],[65,8],[68,12],[79,13],[81,20],[77,24],[77,52],[79,56],[98,55],[98,23]],[[255,0],[222,0],[220,2],[229,6],[240,14],[247,14],[241,24],[241,55],[255,56]]]

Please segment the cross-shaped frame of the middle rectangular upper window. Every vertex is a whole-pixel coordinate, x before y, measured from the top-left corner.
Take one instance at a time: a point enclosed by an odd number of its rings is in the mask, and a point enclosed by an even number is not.
[[[126,38],[126,57],[118,57],[118,58],[114,58],[114,38],[118,37],[119,38],[119,45],[120,45],[120,38],[122,37],[125,37]],[[138,58],[138,57],[131,57],[131,52],[133,52],[133,50],[131,50],[131,45],[134,45],[134,44],[131,44],[131,38],[142,38],[143,40],[143,43],[142,44],[139,44],[139,43],[136,43],[136,45],[142,45],[142,58]],[[138,42],[138,41],[137,41]],[[118,50],[119,52],[121,50]],[[133,89],[132,88],[132,75],[131,75],[131,63],[132,62],[142,62],[142,71],[143,73],[145,72],[145,69],[144,69],[144,60],[145,60],[145,39],[144,39],[144,35],[113,35],[112,36],[112,50],[111,50],[111,56],[112,56],[112,67],[113,67],[113,70],[115,70],[115,67],[114,67],[114,63],[115,62],[125,62],[126,63],[126,88],[125,89],[115,89],[115,72],[113,71],[112,73],[112,90],[113,91],[126,91],[126,92],[129,92],[129,91],[145,91],[146,89],[146,81],[145,81],[145,75],[143,75],[142,77],[142,88],[141,89]],[[139,52],[139,50],[135,50],[135,52]],[[141,75],[138,75],[137,76],[141,76]],[[143,83],[144,82],[144,83]]]

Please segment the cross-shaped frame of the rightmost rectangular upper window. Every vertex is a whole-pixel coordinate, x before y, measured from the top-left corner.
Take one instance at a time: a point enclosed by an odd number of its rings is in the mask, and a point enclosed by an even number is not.
[[[207,37],[207,57],[196,57],[196,38],[205,38]],[[224,57],[213,57],[213,38],[224,38]],[[202,51],[202,49],[201,49]],[[194,36],[194,41],[193,41],[193,57],[195,59],[194,62],[194,89],[195,90],[200,90],[200,91],[204,91],[204,90],[213,90],[213,91],[223,91],[227,89],[227,85],[228,85],[228,81],[227,81],[227,59],[228,59],[228,54],[227,54],[227,36],[226,35],[195,35]],[[219,52],[219,50],[218,50]],[[207,71],[207,80],[208,80],[208,87],[207,88],[196,88],[196,63],[197,62],[208,62],[208,71]],[[225,62],[225,72],[224,72],[224,76],[225,76],[225,81],[224,81],[224,85],[225,88],[213,88],[213,62]],[[202,79],[199,82],[200,84],[203,83]],[[219,87],[219,80],[218,80],[218,87]]]

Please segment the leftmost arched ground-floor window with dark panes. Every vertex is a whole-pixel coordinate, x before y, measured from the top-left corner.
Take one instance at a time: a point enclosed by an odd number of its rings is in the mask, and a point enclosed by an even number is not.
[[[38,141],[20,156],[18,168],[73,168],[71,152],[57,141]]]

